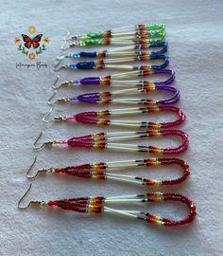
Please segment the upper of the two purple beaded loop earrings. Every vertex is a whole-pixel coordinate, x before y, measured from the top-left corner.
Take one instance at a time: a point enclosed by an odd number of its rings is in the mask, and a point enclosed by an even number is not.
[[[151,75],[169,75],[166,80],[161,82],[151,82],[147,80],[131,80],[132,78],[141,78]],[[54,82],[53,89],[58,90],[62,86],[87,86],[87,85],[105,85],[110,87],[132,87],[132,86],[146,86],[146,84],[154,84],[156,85],[168,85],[171,82],[174,82],[175,79],[175,72],[171,69],[148,69],[145,66],[141,66],[140,70],[125,72],[125,73],[118,73],[113,74],[110,76],[101,76],[101,77],[86,77],[80,80],[73,80],[73,81],[65,81],[61,82],[60,85],[57,85],[59,81],[59,76],[57,77],[56,81]]]

